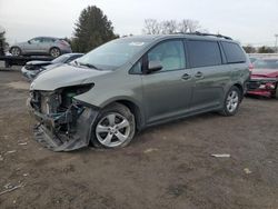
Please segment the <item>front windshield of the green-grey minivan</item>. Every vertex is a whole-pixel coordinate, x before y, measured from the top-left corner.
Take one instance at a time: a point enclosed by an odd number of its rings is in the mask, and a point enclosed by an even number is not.
[[[115,70],[128,62],[137,52],[146,47],[146,42],[132,39],[117,39],[98,47],[78,59],[80,66],[96,67],[102,70]]]

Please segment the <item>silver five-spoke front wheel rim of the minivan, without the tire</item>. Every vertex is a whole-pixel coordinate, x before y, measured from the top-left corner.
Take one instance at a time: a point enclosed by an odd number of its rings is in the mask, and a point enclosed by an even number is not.
[[[110,148],[122,145],[128,139],[129,133],[130,123],[119,113],[107,115],[96,128],[98,141]]]

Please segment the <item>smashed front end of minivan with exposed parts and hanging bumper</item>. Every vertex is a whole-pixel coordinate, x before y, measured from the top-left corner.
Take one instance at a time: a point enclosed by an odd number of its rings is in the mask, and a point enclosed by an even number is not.
[[[70,151],[88,146],[98,109],[75,99],[93,84],[64,87],[54,91],[32,90],[28,100],[39,121],[34,139],[53,151]]]

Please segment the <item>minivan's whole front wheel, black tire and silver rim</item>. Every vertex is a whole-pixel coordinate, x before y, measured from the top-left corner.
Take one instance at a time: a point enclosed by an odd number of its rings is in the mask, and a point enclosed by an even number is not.
[[[102,109],[92,126],[91,142],[97,148],[122,148],[136,132],[135,116],[121,103]]]

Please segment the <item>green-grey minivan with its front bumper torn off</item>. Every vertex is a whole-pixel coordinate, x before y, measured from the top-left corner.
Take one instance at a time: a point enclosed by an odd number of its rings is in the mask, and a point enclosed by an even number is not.
[[[127,146],[143,128],[197,113],[237,113],[249,59],[220,34],[139,36],[112,40],[31,83],[34,138],[54,151],[91,142]]]

